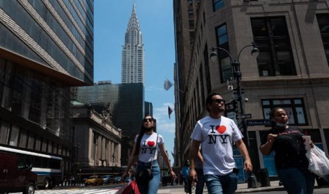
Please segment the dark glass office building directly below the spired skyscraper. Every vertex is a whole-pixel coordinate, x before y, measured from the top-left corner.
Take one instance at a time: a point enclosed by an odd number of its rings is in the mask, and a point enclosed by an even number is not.
[[[122,129],[121,165],[127,165],[145,112],[143,83],[99,82],[73,90],[78,101],[90,104],[98,113],[110,102],[113,125]]]

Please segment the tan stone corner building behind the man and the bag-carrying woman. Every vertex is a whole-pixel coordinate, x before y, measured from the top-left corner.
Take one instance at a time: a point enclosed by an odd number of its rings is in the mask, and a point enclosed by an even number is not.
[[[282,107],[289,114],[290,124],[307,131],[315,144],[328,154],[328,6],[326,0],[203,0],[188,59],[185,53],[179,53],[177,41],[185,34],[178,32],[176,21],[176,73],[182,90],[180,99],[176,98],[181,115],[177,120],[180,126],[176,128],[180,136],[177,160],[183,161],[189,155],[195,122],[207,115],[208,94],[219,92],[227,102],[226,116],[235,117],[230,102],[236,96],[227,87],[228,81],[236,87],[236,82],[231,80],[230,58],[217,51],[218,59],[214,62],[210,60],[210,49],[224,48],[237,59],[240,50],[252,42],[260,50],[258,58],[250,55],[252,47],[244,49],[239,58],[243,99],[247,98],[243,102],[245,113],[251,113],[252,119],[269,119],[270,109]],[[181,58],[188,60],[188,72],[182,70],[186,63],[182,63]],[[187,76],[182,77],[184,74]],[[237,124],[241,126],[241,120],[237,120]],[[269,129],[264,125],[247,127],[249,152],[255,171],[268,168],[270,176],[276,176],[274,156],[263,156],[259,151],[263,135]],[[240,167],[243,159],[237,150],[234,154]],[[239,174],[240,181],[244,181],[244,177],[246,175]]]

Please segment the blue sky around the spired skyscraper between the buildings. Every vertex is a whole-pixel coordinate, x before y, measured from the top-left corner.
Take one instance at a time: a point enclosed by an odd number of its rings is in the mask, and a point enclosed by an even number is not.
[[[121,83],[121,52],[134,0],[94,0],[94,82]],[[145,49],[145,101],[152,102],[157,131],[173,163],[175,115],[173,82],[175,42],[171,0],[136,0],[136,13]],[[139,126],[138,126],[139,127]]]

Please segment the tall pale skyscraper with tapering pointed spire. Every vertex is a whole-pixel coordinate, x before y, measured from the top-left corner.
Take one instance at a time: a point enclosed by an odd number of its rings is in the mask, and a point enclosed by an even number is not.
[[[121,82],[144,83],[144,66],[144,47],[134,3],[122,49]]]

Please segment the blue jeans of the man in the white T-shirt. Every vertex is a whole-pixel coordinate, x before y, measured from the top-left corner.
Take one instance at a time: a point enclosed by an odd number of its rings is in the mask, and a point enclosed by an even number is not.
[[[234,194],[238,186],[238,174],[204,175],[208,194]]]

